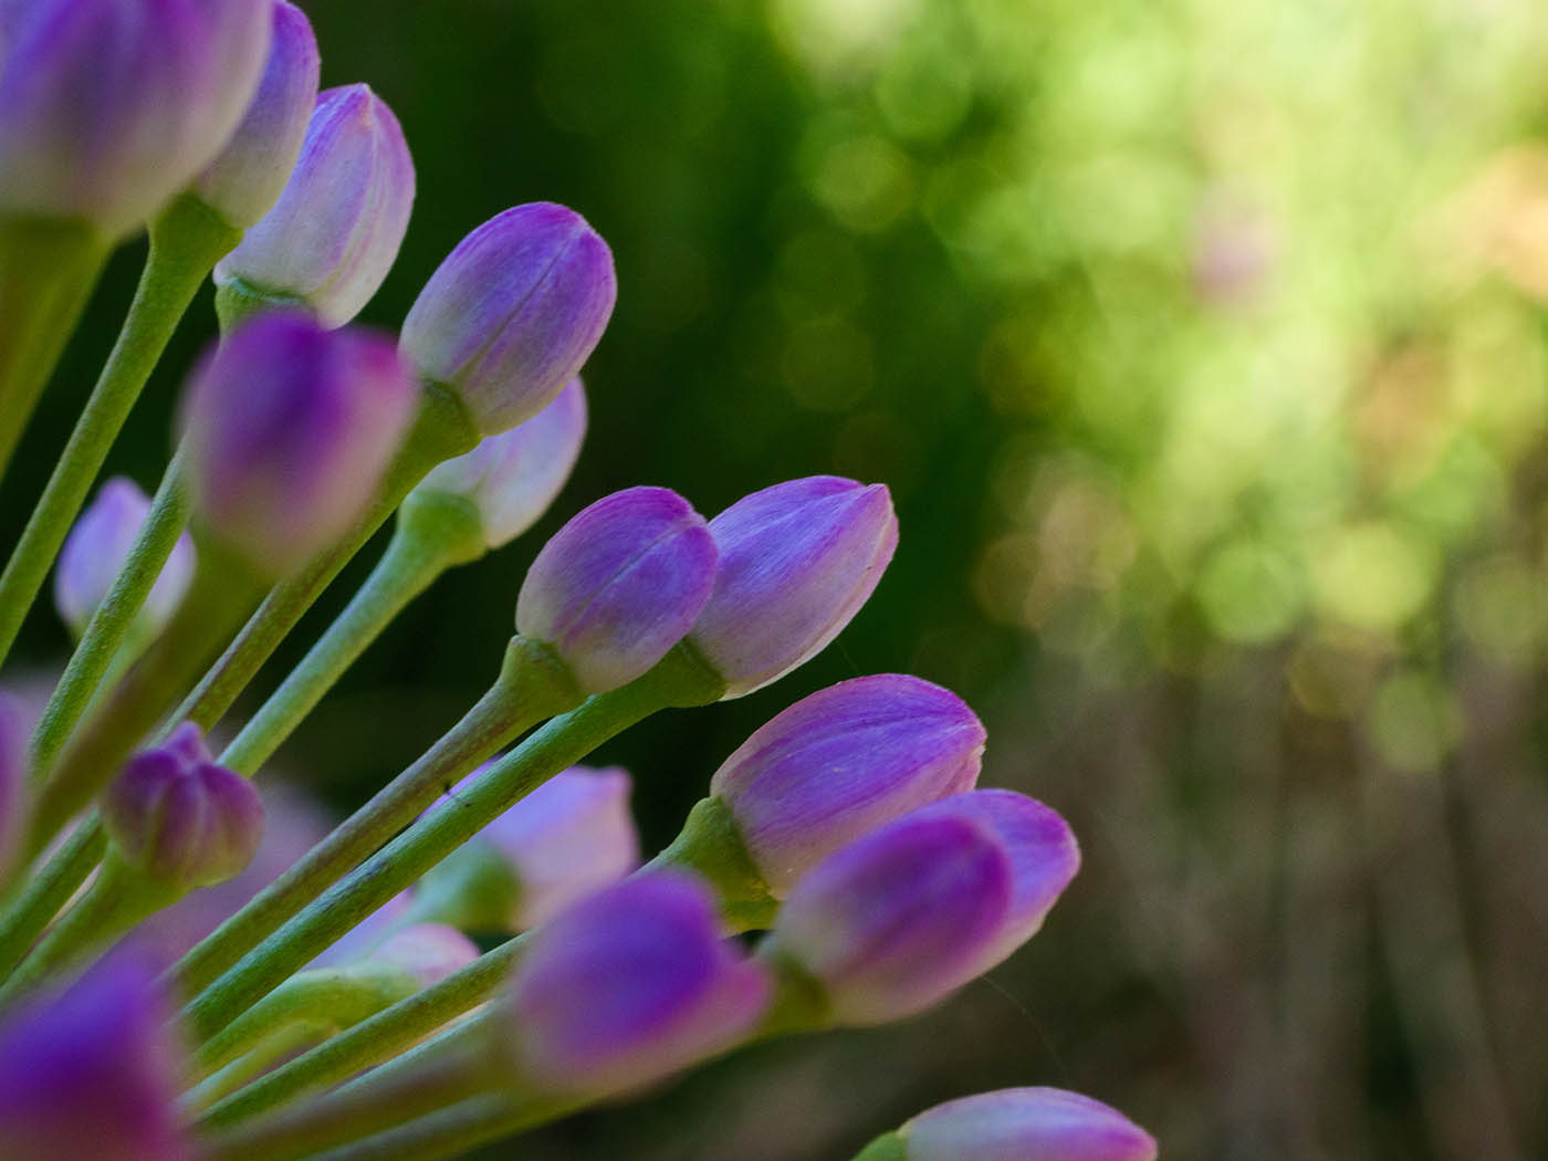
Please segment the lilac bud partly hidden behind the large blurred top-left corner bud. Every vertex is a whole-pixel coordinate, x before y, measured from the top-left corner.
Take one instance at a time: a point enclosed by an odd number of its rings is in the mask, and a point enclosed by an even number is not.
[[[320,60],[307,14],[274,0],[272,28],[259,91],[220,156],[194,181],[200,200],[238,229],[279,200],[317,101]]]

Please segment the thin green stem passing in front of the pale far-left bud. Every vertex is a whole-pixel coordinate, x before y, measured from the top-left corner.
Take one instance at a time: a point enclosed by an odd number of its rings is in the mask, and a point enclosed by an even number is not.
[[[53,768],[59,751],[74,731],[80,717],[91,706],[102,678],[128,635],[135,616],[161,576],[167,557],[183,536],[189,522],[187,480],[183,474],[181,454],[172,458],[161,486],[150,502],[150,512],[139,528],[128,556],[124,559],[113,588],[98,605],[80,635],[80,644],[70,656],[59,684],[43,707],[43,717],[33,731],[31,766],[34,783],[42,782]]]

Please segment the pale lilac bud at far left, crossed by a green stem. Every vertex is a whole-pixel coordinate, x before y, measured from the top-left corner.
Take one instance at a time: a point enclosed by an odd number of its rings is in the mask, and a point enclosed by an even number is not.
[[[85,632],[91,615],[113,588],[149,512],[150,500],[139,486],[116,475],[98,489],[96,498],[65,537],[54,570],[54,607],[76,636]],[[176,610],[192,576],[194,542],[184,534],[136,613],[132,633],[142,639],[155,636]]]

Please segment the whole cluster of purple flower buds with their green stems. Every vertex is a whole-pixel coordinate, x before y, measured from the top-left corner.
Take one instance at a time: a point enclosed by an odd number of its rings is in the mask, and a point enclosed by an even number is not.
[[[443,568],[560,500],[618,296],[601,234],[539,201],[467,234],[399,336],[353,325],[416,178],[370,87],[317,84],[286,0],[0,0],[0,226],[153,223],[163,245],[169,207],[192,204],[234,246],[155,503],[105,481],[59,554],[80,644],[34,743],[65,723],[62,755],[29,749],[31,715],[0,695],[6,1161],[452,1156],[765,1036],[941,1003],[1031,938],[1081,865],[1051,807],[978,788],[972,709],[904,673],[776,714],[646,865],[632,803],[658,788],[574,765],[844,632],[898,519],[884,485],[837,475],[711,519],[661,486],[571,508],[461,721],[331,831],[266,808],[283,799],[249,776],[350,661]],[[376,571],[217,759],[206,735],[243,675],[399,506]],[[152,912],[173,902],[206,913],[167,964],[176,912]],[[1105,1105],[1023,1088],[864,1156],[1153,1155]]]

